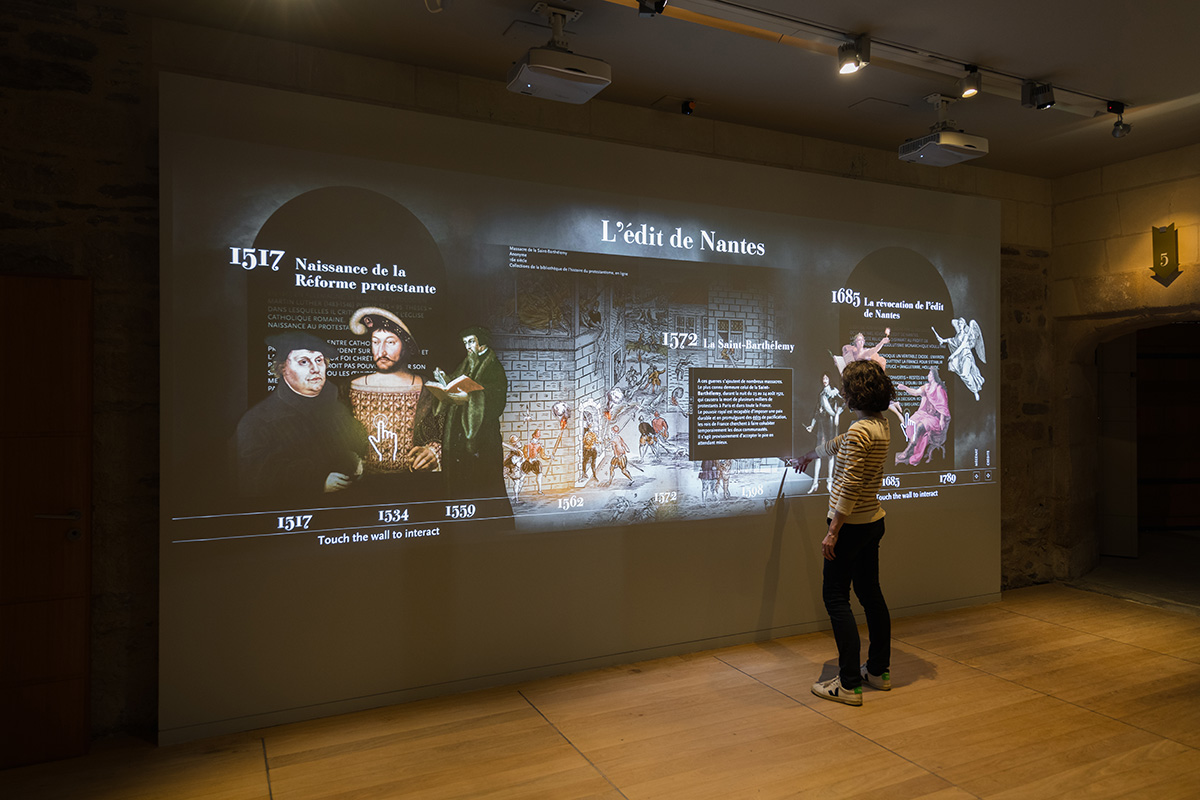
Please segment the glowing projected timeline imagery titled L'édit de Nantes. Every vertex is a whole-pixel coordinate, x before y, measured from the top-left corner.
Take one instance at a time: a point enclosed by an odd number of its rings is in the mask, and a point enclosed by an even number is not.
[[[845,428],[839,377],[863,359],[899,386],[889,499],[995,480],[995,299],[955,296],[958,263],[883,231],[848,247],[853,228],[430,170],[280,194],[287,169],[259,156],[257,221],[175,234],[168,324],[235,309],[244,355],[204,397],[168,375],[170,471],[197,475],[174,541],[763,515],[828,492],[832,464],[782,459]],[[218,187],[198,170],[184,201]]]

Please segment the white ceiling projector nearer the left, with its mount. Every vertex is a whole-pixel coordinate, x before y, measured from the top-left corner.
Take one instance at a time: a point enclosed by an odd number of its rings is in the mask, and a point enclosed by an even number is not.
[[[562,103],[586,103],[612,83],[612,68],[600,59],[576,55],[566,48],[563,29],[582,12],[558,8],[545,2],[534,12],[550,19],[554,31],[545,47],[532,47],[509,70],[509,91],[529,97],[556,100]]]

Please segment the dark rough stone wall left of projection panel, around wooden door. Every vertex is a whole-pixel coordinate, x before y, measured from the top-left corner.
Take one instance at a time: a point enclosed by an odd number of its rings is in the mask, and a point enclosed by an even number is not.
[[[10,1],[0,6],[0,270],[88,276],[95,291],[94,728],[151,732],[158,152],[150,24],[97,6]]]

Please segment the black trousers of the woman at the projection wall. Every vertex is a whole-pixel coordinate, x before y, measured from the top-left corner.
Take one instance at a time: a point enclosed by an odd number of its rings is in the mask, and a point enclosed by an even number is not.
[[[892,663],[892,614],[880,589],[880,540],[883,518],[860,525],[844,524],[838,533],[834,559],[824,563],[821,596],[824,600],[833,638],[838,643],[838,674],[846,688],[860,686],[862,643],[858,624],[850,607],[850,590],[866,612],[866,632],[871,639],[866,668],[872,675],[884,673]]]

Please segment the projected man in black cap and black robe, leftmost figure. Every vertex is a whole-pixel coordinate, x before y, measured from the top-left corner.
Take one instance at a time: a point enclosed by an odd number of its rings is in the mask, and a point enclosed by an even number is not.
[[[361,426],[326,383],[336,348],[300,331],[266,338],[278,385],[238,423],[238,480],[248,497],[338,492],[362,473]]]

